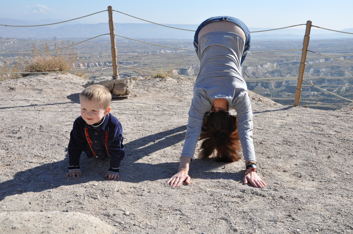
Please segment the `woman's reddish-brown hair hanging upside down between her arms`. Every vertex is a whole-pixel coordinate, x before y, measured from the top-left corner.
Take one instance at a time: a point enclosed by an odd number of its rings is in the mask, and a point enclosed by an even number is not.
[[[241,144],[238,136],[236,116],[226,111],[207,112],[201,128],[199,140],[201,144],[200,158],[209,158],[217,151],[215,160],[219,162],[235,162],[240,159],[238,151]]]

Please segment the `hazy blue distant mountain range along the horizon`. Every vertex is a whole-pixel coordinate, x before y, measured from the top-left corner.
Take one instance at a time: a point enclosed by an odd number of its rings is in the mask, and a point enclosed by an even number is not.
[[[61,20],[24,21],[8,18],[0,18],[3,25],[41,25],[60,22]],[[191,24],[167,24],[175,28],[196,30],[198,25]],[[249,28],[250,31],[262,31],[266,28]],[[340,31],[353,33],[353,28]],[[42,27],[5,27],[0,26],[0,37],[11,38],[90,38],[101,34],[109,33],[108,23],[98,24],[77,24],[68,22]],[[155,24],[115,23],[115,34],[129,38],[156,38],[156,39],[193,39],[194,32],[167,28]],[[303,39],[305,29],[282,29],[276,31],[260,32],[251,34],[253,40],[297,40]],[[108,36],[107,36],[108,37]],[[317,28],[312,28],[311,39],[338,39],[353,38],[352,34],[337,33]]]

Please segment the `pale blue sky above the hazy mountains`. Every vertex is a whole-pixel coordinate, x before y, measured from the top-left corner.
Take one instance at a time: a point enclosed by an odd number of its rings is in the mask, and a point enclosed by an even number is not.
[[[315,26],[333,30],[353,28],[352,0],[4,0],[0,18],[69,20],[107,10],[108,6],[160,24],[199,24],[212,16],[227,15],[242,20],[251,28],[279,28],[306,24],[308,20]],[[116,12],[113,19],[115,23],[144,23]],[[102,22],[108,22],[107,12],[77,21],[89,24]]]

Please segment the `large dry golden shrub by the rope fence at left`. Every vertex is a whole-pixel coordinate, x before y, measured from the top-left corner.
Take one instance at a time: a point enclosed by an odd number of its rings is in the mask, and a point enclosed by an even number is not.
[[[49,48],[47,43],[43,43],[41,48],[38,48],[35,43],[32,45],[32,52],[42,52],[33,53],[30,55],[30,59],[23,61],[19,56],[20,62],[23,64],[23,72],[62,72],[71,71],[73,65],[77,62],[77,52],[73,47],[62,48],[74,44],[74,42],[64,42],[55,43],[54,48]],[[53,49],[58,49],[56,51],[51,51]]]

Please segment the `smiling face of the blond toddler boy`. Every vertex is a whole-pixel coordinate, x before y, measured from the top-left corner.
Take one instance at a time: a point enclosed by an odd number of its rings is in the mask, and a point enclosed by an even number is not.
[[[82,119],[88,125],[100,123],[103,116],[108,114],[112,109],[111,107],[105,109],[102,104],[93,100],[88,100],[86,97],[80,97],[80,103]]]

